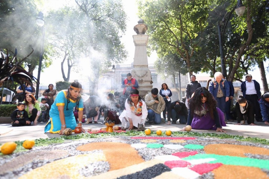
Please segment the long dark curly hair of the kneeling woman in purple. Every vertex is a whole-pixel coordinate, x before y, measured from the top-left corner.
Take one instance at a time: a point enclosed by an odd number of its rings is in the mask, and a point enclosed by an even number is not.
[[[217,101],[205,87],[200,87],[195,90],[193,97],[189,100],[189,112],[193,116],[195,110],[202,109],[203,103],[201,100],[201,94],[203,94],[204,97],[207,97],[207,101],[205,103],[211,118],[214,119],[213,111],[216,110]]]

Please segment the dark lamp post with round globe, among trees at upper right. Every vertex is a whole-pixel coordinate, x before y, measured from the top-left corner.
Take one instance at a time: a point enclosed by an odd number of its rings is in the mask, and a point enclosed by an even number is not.
[[[235,10],[236,14],[238,16],[242,16],[244,14],[245,9],[246,9],[246,7],[242,4],[242,0],[237,0],[237,4],[233,8],[233,10]],[[231,12],[229,13],[229,17],[227,19],[227,22],[229,21],[231,15],[233,13],[233,10],[231,10]],[[219,39],[219,50],[220,50],[220,53],[221,53],[221,73],[222,73],[222,75],[224,75],[224,77],[226,77],[226,66],[225,66],[223,50],[222,50],[223,36],[224,36],[224,32],[225,32],[225,29],[226,29],[226,26],[227,26],[227,23],[225,24],[224,19],[225,19],[225,16],[222,19],[222,25],[220,25],[220,22],[218,22],[218,39]],[[223,26],[223,25],[224,25],[224,28],[222,30],[223,34],[222,34],[222,37],[221,37],[221,27],[220,26]]]

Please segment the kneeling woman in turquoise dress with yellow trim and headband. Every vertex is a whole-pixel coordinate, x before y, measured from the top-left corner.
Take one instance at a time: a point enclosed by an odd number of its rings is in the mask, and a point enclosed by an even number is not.
[[[63,135],[66,128],[71,128],[74,132],[77,122],[73,113],[73,108],[78,107],[78,126],[82,126],[83,100],[81,99],[82,86],[79,82],[73,82],[68,90],[58,93],[50,110],[50,120],[45,126],[45,132],[59,133]],[[85,130],[81,127],[81,131]]]

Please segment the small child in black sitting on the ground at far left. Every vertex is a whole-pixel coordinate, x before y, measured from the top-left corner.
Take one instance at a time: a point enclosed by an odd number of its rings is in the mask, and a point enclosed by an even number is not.
[[[16,126],[30,126],[31,122],[29,121],[28,114],[25,111],[25,103],[19,102],[16,110],[10,115],[13,122],[11,123],[13,127]]]

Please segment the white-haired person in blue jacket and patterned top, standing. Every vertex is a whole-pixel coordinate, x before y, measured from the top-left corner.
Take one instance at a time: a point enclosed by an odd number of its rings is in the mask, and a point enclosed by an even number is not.
[[[214,78],[215,79],[209,83],[209,92],[217,101],[217,107],[225,114],[226,102],[229,101],[230,97],[230,86],[225,79],[222,79],[221,72],[215,72]]]

